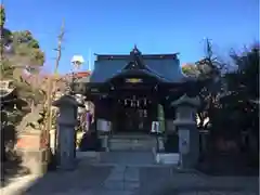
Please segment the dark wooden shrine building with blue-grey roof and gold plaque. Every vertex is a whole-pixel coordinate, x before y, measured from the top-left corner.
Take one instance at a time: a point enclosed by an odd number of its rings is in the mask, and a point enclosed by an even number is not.
[[[195,96],[197,87],[182,73],[178,53],[142,54],[135,47],[126,55],[96,54],[88,81],[77,82],[75,90],[94,104],[95,121],[109,121],[110,132],[118,134],[150,133],[160,108],[168,131],[176,117],[171,102]]]

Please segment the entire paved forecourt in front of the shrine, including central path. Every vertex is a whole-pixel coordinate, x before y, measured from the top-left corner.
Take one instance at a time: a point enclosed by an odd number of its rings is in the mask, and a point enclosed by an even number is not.
[[[257,178],[207,177],[156,166],[150,155],[113,154],[102,164],[79,164],[75,171],[50,172],[26,193],[4,195],[258,195]],[[15,187],[14,187],[15,188]]]

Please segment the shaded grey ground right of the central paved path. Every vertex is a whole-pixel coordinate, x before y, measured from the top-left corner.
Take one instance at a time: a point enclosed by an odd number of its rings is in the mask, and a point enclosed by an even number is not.
[[[257,177],[211,177],[196,171],[144,168],[141,170],[141,182],[142,195],[259,194]]]

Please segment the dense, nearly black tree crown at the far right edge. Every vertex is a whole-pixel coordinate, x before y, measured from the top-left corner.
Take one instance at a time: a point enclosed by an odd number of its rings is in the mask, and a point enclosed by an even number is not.
[[[225,75],[229,95],[222,99],[222,104],[229,114],[235,114],[234,119],[243,130],[258,130],[259,108],[259,46],[249,51],[232,55],[237,69]]]

